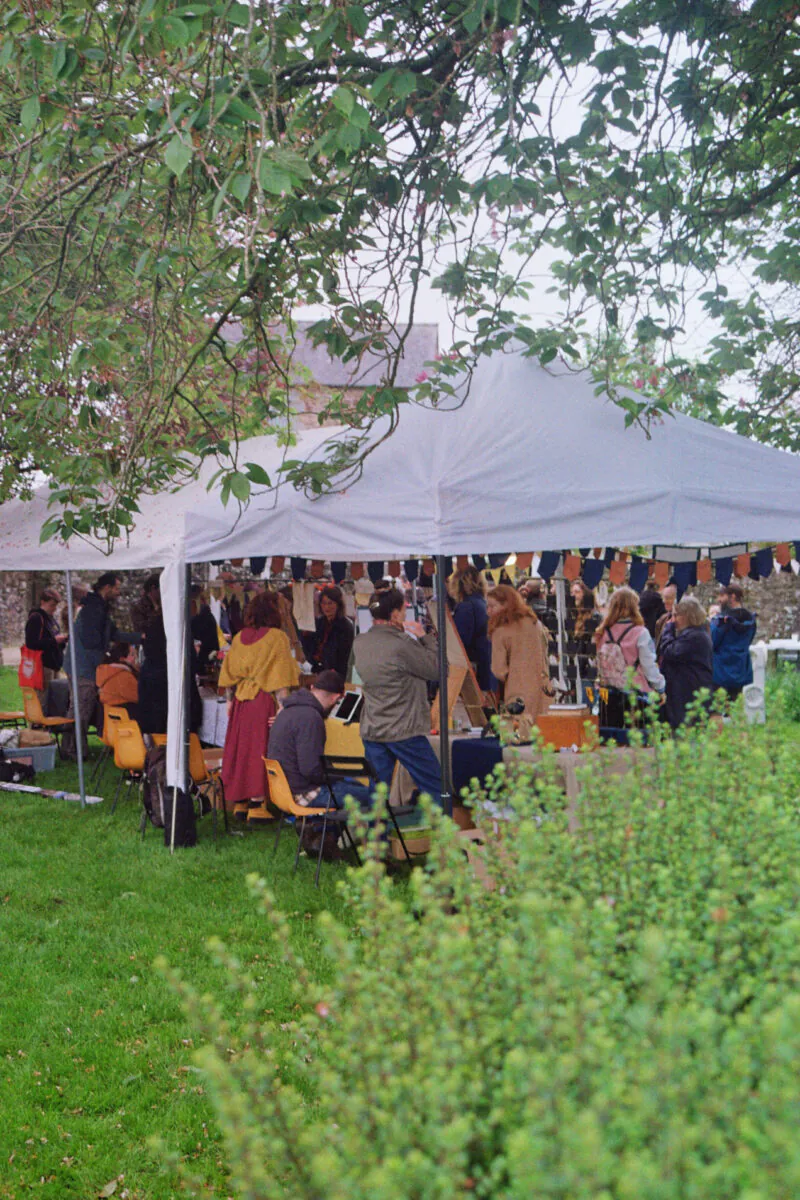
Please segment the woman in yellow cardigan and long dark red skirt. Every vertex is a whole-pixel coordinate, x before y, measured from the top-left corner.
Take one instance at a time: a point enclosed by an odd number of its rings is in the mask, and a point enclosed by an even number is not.
[[[296,688],[300,670],[271,592],[259,592],[245,610],[245,628],[236,634],[219,671],[223,688],[235,688],[228,704],[228,732],[222,756],[222,782],[228,808],[242,800],[263,804],[269,787],[264,770],[270,722],[276,698]]]

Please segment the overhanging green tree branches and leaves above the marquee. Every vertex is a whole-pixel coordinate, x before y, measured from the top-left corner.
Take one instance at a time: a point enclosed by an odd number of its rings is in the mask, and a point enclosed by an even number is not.
[[[631,355],[666,368],[620,398],[645,421],[680,396],[720,415],[745,372],[739,427],[796,444],[786,0],[37,0],[6,4],[0,36],[0,496],[43,470],[48,532],[113,542],[143,490],[194,469],[186,451],[219,455],[240,502],[273,485],[236,445],[290,440],[306,304],[331,353],[385,360],[331,401],[348,454],[287,472],[312,493],[348,478],[405,400],[426,280],[459,362],[512,336],[578,358],[591,337],[614,377],[627,344],[627,373]],[[542,256],[560,296],[535,325]],[[742,266],[756,287],[736,290]],[[717,320],[699,368],[673,350],[692,290]]]

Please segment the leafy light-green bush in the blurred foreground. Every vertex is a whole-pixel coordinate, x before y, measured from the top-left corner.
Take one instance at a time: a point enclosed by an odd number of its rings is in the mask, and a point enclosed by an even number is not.
[[[323,988],[251,877],[296,1021],[218,944],[235,1028],[173,977],[237,1200],[800,1194],[792,748],[734,722],[630,757],[587,756],[576,814],[558,755],[498,768],[516,818],[481,818],[493,892],[446,821],[407,887],[373,847],[351,928],[323,918]]]

